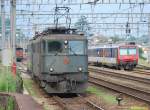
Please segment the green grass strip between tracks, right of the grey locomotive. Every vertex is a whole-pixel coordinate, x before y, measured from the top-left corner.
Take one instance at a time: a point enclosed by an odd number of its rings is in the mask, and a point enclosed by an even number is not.
[[[103,89],[98,89],[96,87],[89,86],[87,88],[87,92],[96,94],[97,96],[101,97],[106,103],[110,103],[110,104],[117,103],[116,97],[111,94],[106,93],[106,91]]]

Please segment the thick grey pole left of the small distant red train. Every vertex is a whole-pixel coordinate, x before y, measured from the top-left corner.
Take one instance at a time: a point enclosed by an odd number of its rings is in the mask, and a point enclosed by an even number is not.
[[[10,30],[13,63],[16,63],[16,0],[10,0]]]

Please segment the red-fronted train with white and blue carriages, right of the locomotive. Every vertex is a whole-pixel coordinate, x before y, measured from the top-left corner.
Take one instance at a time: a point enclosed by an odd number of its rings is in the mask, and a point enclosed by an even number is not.
[[[139,54],[136,45],[96,46],[88,49],[90,63],[133,70],[138,64]]]

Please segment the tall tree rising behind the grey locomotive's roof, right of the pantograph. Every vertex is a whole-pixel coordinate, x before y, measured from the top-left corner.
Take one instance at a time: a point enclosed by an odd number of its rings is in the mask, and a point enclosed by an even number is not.
[[[80,19],[75,23],[75,28],[78,31],[84,32],[84,34],[88,34],[90,31],[91,27],[87,21],[87,18],[85,16],[81,16]]]

